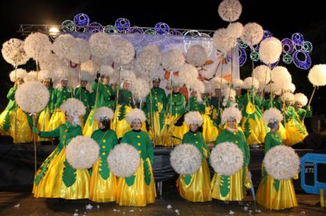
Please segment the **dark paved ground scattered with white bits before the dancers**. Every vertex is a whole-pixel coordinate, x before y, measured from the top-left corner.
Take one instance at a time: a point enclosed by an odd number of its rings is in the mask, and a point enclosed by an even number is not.
[[[298,208],[275,211],[255,205],[249,196],[242,205],[238,202],[225,204],[217,200],[192,203],[180,198],[173,182],[164,185],[164,194],[157,197],[156,203],[143,208],[119,207],[115,203],[93,203],[86,199],[65,202],[59,202],[58,199],[34,199],[26,189],[10,190],[11,192],[6,192],[6,189],[1,188],[0,215],[326,215],[326,210],[318,204],[319,197],[315,195],[297,194]],[[88,204],[93,208],[86,210]],[[169,205],[171,208],[168,208]]]

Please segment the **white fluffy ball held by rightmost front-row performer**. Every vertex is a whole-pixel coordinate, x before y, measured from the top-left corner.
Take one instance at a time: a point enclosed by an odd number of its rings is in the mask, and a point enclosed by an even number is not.
[[[291,147],[279,145],[267,151],[263,163],[272,178],[288,180],[299,172],[300,159]]]

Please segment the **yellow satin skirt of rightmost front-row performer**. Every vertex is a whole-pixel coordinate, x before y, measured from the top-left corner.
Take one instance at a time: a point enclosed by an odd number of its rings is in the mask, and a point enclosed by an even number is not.
[[[296,207],[297,197],[295,197],[292,180],[280,180],[279,192],[277,192],[274,188],[274,179],[267,175],[265,183],[263,181],[259,183],[256,201],[265,208],[275,210]]]

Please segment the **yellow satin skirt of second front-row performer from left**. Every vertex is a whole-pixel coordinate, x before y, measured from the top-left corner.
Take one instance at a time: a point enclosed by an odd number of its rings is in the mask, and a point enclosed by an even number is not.
[[[116,201],[116,176],[110,172],[109,178],[102,178],[100,175],[100,163],[101,159],[99,158],[93,165],[91,183],[89,186],[89,199],[102,203]]]

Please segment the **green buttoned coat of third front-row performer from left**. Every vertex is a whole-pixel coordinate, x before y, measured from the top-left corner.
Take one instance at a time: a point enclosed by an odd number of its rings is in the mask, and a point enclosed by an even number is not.
[[[150,138],[148,136],[148,133],[144,131],[128,131],[123,136],[121,143],[128,143],[131,144],[134,148],[137,149],[137,151],[140,151],[141,159],[143,159],[143,172],[144,172],[144,179],[146,181],[146,184],[150,184],[151,181],[151,173],[149,169],[149,165],[146,162],[146,159],[150,159],[151,165],[154,163],[154,151],[153,151],[153,144],[150,141]],[[127,185],[132,185],[133,181],[132,178],[128,177],[125,178],[125,181]],[[129,184],[127,181],[129,181],[131,184]]]

